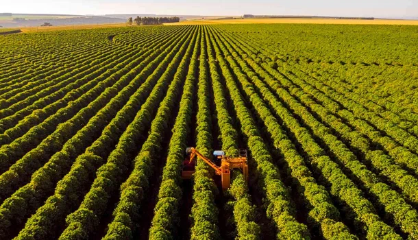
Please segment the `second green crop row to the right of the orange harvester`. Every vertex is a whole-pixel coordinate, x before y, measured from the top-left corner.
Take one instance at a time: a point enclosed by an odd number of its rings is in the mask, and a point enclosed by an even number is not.
[[[218,37],[215,37],[215,39],[219,40]],[[306,202],[308,202],[307,205],[311,206],[308,213],[308,220],[310,220],[310,224],[313,226],[321,226],[321,234],[325,237],[325,239],[332,239],[336,236],[343,239],[356,239],[356,237],[349,234],[347,226],[341,223],[339,211],[332,204],[330,196],[325,191],[325,188],[317,184],[315,178],[312,178],[312,174],[310,173],[308,167],[304,164],[302,156],[297,154],[295,146],[293,146],[286,134],[284,134],[280,124],[274,119],[267,105],[258,96],[258,93],[254,91],[254,88],[250,87],[251,82],[249,77],[251,77],[253,82],[260,81],[256,73],[247,67],[245,62],[241,60],[241,57],[238,56],[232,47],[230,47],[228,42],[219,40],[219,43],[222,45],[225,44],[228,49],[232,51],[232,56],[234,56],[234,59],[238,62],[239,66],[232,60],[232,58],[227,57],[228,62],[230,62],[230,66],[234,70],[239,82],[241,82],[247,97],[251,99],[250,101],[253,106],[257,106],[258,115],[267,126],[269,134],[273,136],[273,145],[280,149],[280,152],[284,155],[284,160],[286,160],[286,163],[291,168],[291,175],[299,182],[299,191],[302,191],[302,194],[306,197]],[[232,41],[230,41],[230,43],[233,44]],[[222,45],[221,49],[225,54],[225,51],[228,49]],[[241,72],[240,68],[243,72]],[[245,76],[244,73],[247,74],[248,77]],[[256,86],[260,88],[260,85]],[[274,96],[271,95],[267,89],[260,88],[260,92],[268,95],[265,99],[271,99],[271,101],[273,101]],[[320,202],[317,199],[321,199],[322,201]]]

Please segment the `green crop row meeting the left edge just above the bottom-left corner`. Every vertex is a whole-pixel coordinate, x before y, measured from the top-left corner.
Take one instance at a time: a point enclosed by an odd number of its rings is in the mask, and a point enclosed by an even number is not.
[[[164,54],[162,54],[162,56],[164,56]],[[162,58],[160,57],[160,59]],[[156,60],[155,62],[159,61]],[[97,136],[97,134],[103,130],[107,123],[110,122],[114,115],[116,115],[119,111],[119,108],[122,108],[122,106],[125,105],[131,95],[136,97],[137,101],[138,99],[146,98],[146,94],[151,91],[155,81],[143,82],[145,81],[147,75],[151,74],[154,67],[156,67],[156,63],[147,65],[147,67],[145,67],[140,74],[136,75],[132,82],[120,91],[118,95],[106,105],[105,108],[97,112],[97,115],[90,119],[88,124],[85,125],[82,130],[77,132],[75,136],[67,141],[60,152],[54,154],[44,167],[38,169],[38,171],[32,175],[32,181],[29,184],[19,189],[19,191],[14,193],[12,197],[1,205],[0,226],[4,227],[2,229],[7,229],[5,227],[7,224],[5,224],[6,219],[8,219],[8,222],[11,220],[22,222],[29,213],[32,213],[32,211],[39,207],[39,204],[31,204],[29,208],[28,203],[42,202],[42,198],[44,198],[44,196],[53,189],[56,182],[58,182],[58,180],[60,180],[67,171],[69,171],[69,167],[71,167],[73,159],[75,159],[79,154],[82,154],[84,149],[95,140],[94,136]],[[52,171],[54,169],[55,171]],[[18,180],[23,181],[21,178]],[[20,201],[17,201],[18,199],[20,199]],[[15,208],[20,208],[21,211],[11,211],[11,209]]]

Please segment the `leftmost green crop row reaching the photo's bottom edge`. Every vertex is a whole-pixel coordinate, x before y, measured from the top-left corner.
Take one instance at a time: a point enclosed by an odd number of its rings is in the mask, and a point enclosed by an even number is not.
[[[173,39],[175,40],[175,38]],[[177,43],[173,43],[173,45],[175,44]],[[172,51],[171,46],[164,49],[165,51],[153,62],[161,62],[164,56],[169,51]],[[155,67],[155,64],[152,63],[147,65],[143,73],[136,76],[136,78],[144,79],[144,77],[147,77],[149,73],[154,71]],[[163,68],[160,67],[160,69]],[[47,237],[48,231],[52,229],[58,230],[64,226],[66,215],[77,209],[82,202],[82,197],[88,192],[95,178],[95,172],[101,165],[106,163],[106,159],[114,149],[109,146],[114,146],[118,143],[119,136],[125,132],[127,126],[130,125],[137,115],[142,104],[147,100],[149,93],[156,86],[157,80],[158,77],[148,77],[145,83],[130,97],[130,100],[123,106],[122,110],[106,126],[101,136],[86,149],[84,154],[77,157],[71,167],[71,171],[58,182],[54,195],[49,197],[46,204],[41,206],[36,211],[36,214],[27,221],[25,228],[20,234],[21,236],[32,236],[42,239]]]

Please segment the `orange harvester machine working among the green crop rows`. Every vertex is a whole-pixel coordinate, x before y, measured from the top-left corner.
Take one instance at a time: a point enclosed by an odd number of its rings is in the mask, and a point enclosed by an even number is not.
[[[196,157],[204,160],[212,169],[215,174],[221,176],[222,189],[226,190],[230,188],[231,184],[231,170],[239,169],[243,172],[245,181],[248,181],[248,164],[247,164],[247,150],[238,149],[238,156],[225,156],[223,151],[213,152],[214,161],[210,160],[206,156],[203,156],[197,149],[193,147],[186,148],[186,160],[183,161],[182,166],[182,178],[190,179],[195,173]]]

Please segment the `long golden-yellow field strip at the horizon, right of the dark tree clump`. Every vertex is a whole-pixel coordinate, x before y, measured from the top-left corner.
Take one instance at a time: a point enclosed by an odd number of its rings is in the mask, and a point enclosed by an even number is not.
[[[195,21],[181,21],[176,24],[236,24],[236,23],[316,23],[316,24],[376,24],[376,25],[418,25],[418,20],[390,20],[390,19],[201,19]]]

